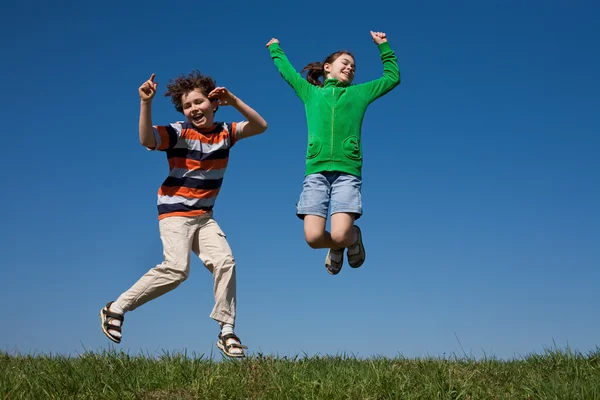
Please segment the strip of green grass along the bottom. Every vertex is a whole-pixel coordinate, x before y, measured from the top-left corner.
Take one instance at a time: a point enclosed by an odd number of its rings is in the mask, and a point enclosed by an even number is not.
[[[0,352],[0,399],[600,399],[600,348],[520,359]]]

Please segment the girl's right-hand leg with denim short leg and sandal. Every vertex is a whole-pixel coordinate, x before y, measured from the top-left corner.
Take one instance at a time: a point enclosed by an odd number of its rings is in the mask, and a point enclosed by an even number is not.
[[[365,249],[360,228],[354,225],[362,215],[362,179],[341,173],[331,184],[331,237],[337,247],[347,248],[348,264],[360,267]]]

